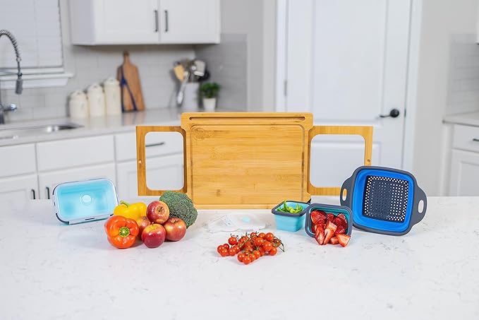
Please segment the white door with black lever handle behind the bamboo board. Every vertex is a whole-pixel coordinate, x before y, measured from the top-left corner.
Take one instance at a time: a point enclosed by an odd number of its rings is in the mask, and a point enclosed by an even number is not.
[[[410,8],[410,0],[287,1],[279,110],[313,112],[316,125],[372,125],[372,165],[401,168]],[[380,117],[393,109],[398,117]],[[315,186],[340,186],[360,165],[360,137],[313,139]]]

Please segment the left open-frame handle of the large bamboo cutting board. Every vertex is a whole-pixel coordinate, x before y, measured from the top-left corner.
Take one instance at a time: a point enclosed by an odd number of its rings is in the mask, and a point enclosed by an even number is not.
[[[161,196],[166,190],[152,190],[146,184],[145,136],[149,132],[178,132],[183,136],[183,188],[174,190],[186,194],[186,132],[181,126],[137,126],[136,127],[136,165],[138,168],[138,196]]]

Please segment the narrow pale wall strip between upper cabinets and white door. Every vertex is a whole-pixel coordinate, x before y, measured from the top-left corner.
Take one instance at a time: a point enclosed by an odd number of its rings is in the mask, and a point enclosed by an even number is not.
[[[222,33],[248,37],[248,111],[274,110],[274,0],[222,0]]]

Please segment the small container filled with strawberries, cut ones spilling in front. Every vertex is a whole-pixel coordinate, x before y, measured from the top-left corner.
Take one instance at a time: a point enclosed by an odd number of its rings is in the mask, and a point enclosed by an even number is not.
[[[351,209],[345,206],[312,203],[306,209],[305,232],[320,245],[346,247],[353,230]]]

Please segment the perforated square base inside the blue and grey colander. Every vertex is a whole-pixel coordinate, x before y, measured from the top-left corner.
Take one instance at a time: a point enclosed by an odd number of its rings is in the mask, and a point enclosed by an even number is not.
[[[364,186],[363,215],[404,223],[408,208],[409,182],[392,177],[368,176]]]

